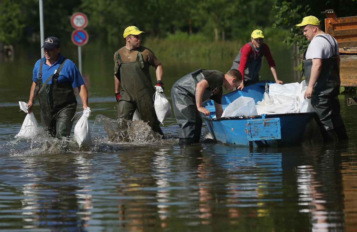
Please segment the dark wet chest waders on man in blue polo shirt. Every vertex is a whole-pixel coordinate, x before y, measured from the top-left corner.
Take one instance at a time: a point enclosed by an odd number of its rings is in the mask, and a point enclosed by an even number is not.
[[[71,82],[57,83],[65,60],[66,58],[63,58],[57,72],[52,74],[45,83],[42,83],[43,62],[41,60],[35,88],[36,92],[37,85],[40,87],[39,102],[42,128],[56,138],[70,135],[73,125],[72,118],[77,107],[77,100]],[[47,84],[50,79],[52,79],[52,84]],[[36,93],[34,96],[34,99],[36,99]]]

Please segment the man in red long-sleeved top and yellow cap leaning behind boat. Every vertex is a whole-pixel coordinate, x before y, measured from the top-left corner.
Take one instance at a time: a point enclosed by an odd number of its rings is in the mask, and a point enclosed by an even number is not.
[[[259,70],[262,66],[262,58],[267,58],[270,70],[274,76],[275,82],[283,84],[278,79],[275,62],[271,56],[268,44],[263,43],[264,35],[261,30],[252,32],[251,41],[246,43],[238,53],[238,56],[233,61],[231,69],[238,69],[243,75],[243,81],[238,86],[238,89],[243,89],[244,86],[255,84],[259,81]]]

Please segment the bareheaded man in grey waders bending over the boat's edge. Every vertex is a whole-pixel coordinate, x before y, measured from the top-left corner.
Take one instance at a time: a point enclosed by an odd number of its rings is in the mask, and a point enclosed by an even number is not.
[[[226,90],[236,89],[242,82],[242,74],[237,69],[226,74],[217,70],[198,69],[176,81],[171,89],[172,105],[180,136],[178,145],[191,145],[200,142],[202,118],[210,111],[202,102],[211,99],[215,103],[216,117],[223,114],[222,86]]]

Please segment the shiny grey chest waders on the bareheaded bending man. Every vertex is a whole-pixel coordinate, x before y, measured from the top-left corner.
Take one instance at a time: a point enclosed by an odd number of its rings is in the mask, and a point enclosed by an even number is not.
[[[192,140],[192,143],[200,142],[202,118],[200,111],[196,106],[196,85],[205,77],[202,71],[207,69],[198,69],[189,73],[176,81],[171,89],[172,105],[178,125],[180,126],[180,140]],[[202,102],[212,96],[213,90],[205,90],[202,96]]]

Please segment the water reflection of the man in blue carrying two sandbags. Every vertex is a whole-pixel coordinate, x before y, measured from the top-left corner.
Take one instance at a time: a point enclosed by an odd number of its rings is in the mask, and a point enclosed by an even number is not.
[[[14,190],[22,193],[18,197],[21,207],[11,209],[21,215],[21,219],[16,227],[8,227],[9,231],[11,228],[87,231],[91,196],[82,191],[90,178],[90,170],[90,162],[80,156],[44,156],[42,162],[36,157],[26,157],[21,167],[13,170],[14,175],[23,175],[15,182],[22,184],[22,188]],[[4,184],[14,181],[14,178],[3,177]]]

